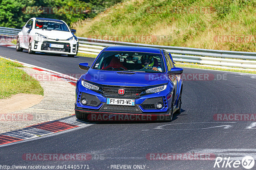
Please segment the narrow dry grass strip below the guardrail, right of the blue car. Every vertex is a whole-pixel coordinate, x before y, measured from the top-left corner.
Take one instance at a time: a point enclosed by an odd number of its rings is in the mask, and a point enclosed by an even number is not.
[[[204,68],[204,69],[211,69],[211,70],[222,70],[222,71],[232,71],[232,72],[239,72],[239,73],[252,73],[256,74],[256,71],[249,71],[249,70],[236,70],[232,69],[232,67],[229,68],[215,68],[215,67],[207,67],[207,66],[202,66],[201,64],[196,64],[196,63],[180,63],[176,62],[175,64],[176,67],[190,67],[190,68]]]

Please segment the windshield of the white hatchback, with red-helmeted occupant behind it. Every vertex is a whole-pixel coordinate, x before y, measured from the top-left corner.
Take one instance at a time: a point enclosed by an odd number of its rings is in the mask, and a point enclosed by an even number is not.
[[[45,29],[45,30],[56,30],[56,31],[68,31],[68,27],[62,21],[51,21],[51,20],[41,20],[36,19],[35,29]]]

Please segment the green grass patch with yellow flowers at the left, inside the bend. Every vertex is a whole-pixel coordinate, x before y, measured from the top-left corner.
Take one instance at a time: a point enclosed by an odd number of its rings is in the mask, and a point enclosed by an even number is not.
[[[23,66],[0,58],[0,99],[18,93],[44,95],[44,89],[39,82],[17,67]]]

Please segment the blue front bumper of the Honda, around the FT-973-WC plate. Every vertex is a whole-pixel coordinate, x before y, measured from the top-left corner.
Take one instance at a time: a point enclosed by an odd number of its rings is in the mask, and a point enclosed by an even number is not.
[[[80,83],[76,86],[76,103],[75,110],[84,113],[97,113],[97,114],[134,114],[134,115],[169,115],[170,103],[172,99],[172,89],[166,88],[165,90],[152,94],[143,94],[143,89],[138,89],[138,96],[133,93],[127,93],[130,96],[117,96],[115,92],[106,92],[105,87],[101,87],[99,92],[87,89]],[[125,87],[122,87],[125,88]],[[134,87],[136,88],[136,87]],[[116,88],[118,89],[118,88]],[[110,89],[111,90],[111,89]],[[126,89],[127,90],[127,89]],[[137,89],[132,89],[137,90]],[[129,89],[127,90],[129,91]],[[145,90],[144,90],[145,91]],[[136,93],[136,92],[135,92]],[[140,96],[142,94],[142,96]],[[132,96],[133,95],[133,96]],[[88,101],[86,105],[81,103],[81,99],[86,98]],[[126,105],[109,105],[107,98],[126,98],[134,99],[135,106]],[[161,109],[156,108],[156,103],[162,103]]]

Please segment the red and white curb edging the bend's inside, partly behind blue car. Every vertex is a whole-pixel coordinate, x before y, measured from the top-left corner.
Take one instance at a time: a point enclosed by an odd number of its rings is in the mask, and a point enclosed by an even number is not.
[[[44,73],[44,74],[50,74],[52,76],[56,76],[58,78],[61,78],[64,81],[67,81],[67,82],[71,83],[72,85],[76,86],[77,78],[75,78],[75,77],[72,77],[72,76],[69,76],[66,74],[62,74],[62,73],[59,73],[59,72],[56,72],[53,70],[49,70],[46,68],[23,63],[23,62],[20,62],[17,60],[11,60],[11,59],[7,59],[5,57],[1,57],[1,58],[20,63],[23,66],[30,67],[30,68],[33,68],[38,71],[42,71],[42,73]],[[84,126],[84,125],[89,126],[92,124],[93,123],[79,121],[76,119],[76,116],[72,115],[72,116],[60,118],[57,120],[53,120],[50,122],[36,124],[36,125],[28,126],[25,128],[21,128],[18,130],[1,133],[0,134],[0,145],[10,144],[13,142],[23,141],[23,140],[32,139],[32,138],[37,138],[37,137],[41,137],[44,135],[49,135],[49,134],[53,134],[56,132],[65,131],[65,130],[73,129],[76,127]]]

